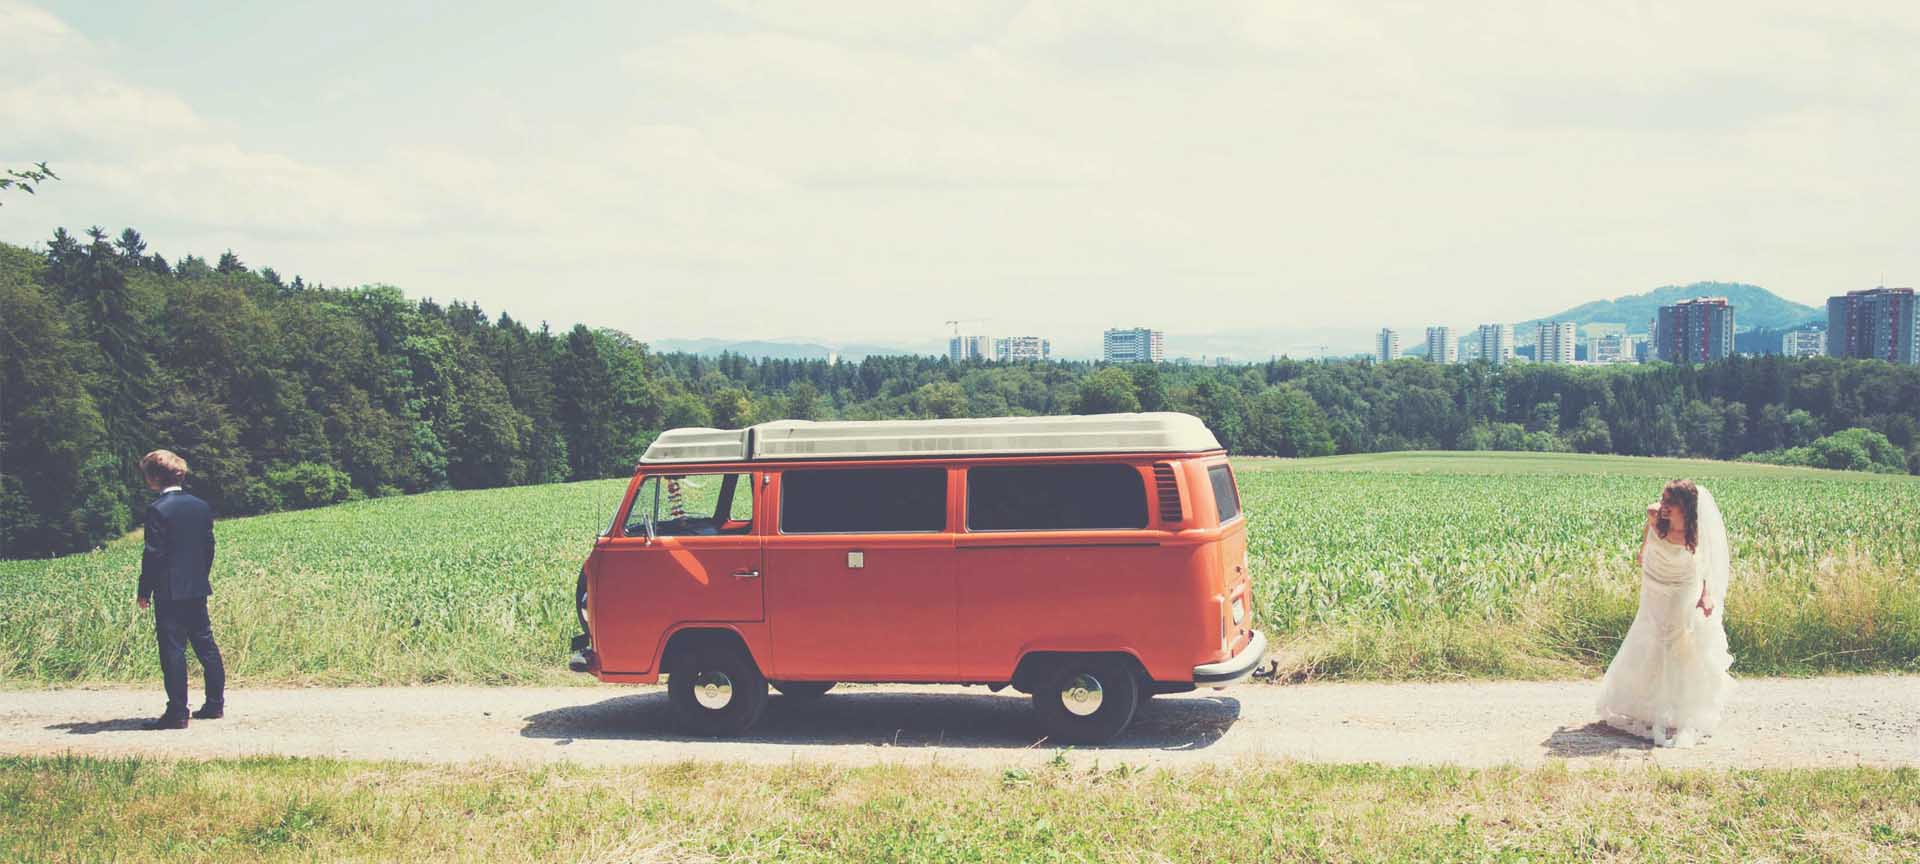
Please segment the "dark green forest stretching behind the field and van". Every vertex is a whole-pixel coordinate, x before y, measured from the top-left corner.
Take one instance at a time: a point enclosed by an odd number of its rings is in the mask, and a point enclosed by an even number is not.
[[[653,353],[611,328],[330,288],[140,232],[0,244],[0,553],[127,532],[167,447],[219,515],[620,476],[664,428],[1187,411],[1235,453],[1534,449],[1920,472],[1920,369],[858,363]]]

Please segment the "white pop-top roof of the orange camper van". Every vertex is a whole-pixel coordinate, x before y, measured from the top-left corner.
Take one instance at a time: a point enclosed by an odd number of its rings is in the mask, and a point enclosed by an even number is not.
[[[1192,415],[981,417],[966,420],[774,420],[674,428],[641,465],[747,459],[856,459],[1016,453],[1198,453],[1221,449]]]

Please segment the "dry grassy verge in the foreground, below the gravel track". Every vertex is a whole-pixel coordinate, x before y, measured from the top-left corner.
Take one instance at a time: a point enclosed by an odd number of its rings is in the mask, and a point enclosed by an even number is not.
[[[0,758],[4,860],[1920,856],[1920,772],[422,768]]]

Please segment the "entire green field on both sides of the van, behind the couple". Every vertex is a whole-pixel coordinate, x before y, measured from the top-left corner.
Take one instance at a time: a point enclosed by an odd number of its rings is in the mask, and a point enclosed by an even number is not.
[[[1261,626],[1288,678],[1588,676],[1632,620],[1642,507],[1718,495],[1738,674],[1920,672],[1920,480],[1534,453],[1240,461]],[[574,572],[624,480],[223,520],[238,684],[584,682]],[[140,541],[0,563],[0,682],[154,682]]]

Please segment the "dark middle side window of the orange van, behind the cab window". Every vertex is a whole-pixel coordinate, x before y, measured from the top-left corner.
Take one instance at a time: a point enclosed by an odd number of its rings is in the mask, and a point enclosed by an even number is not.
[[[780,530],[943,532],[947,468],[787,470],[780,476]]]

